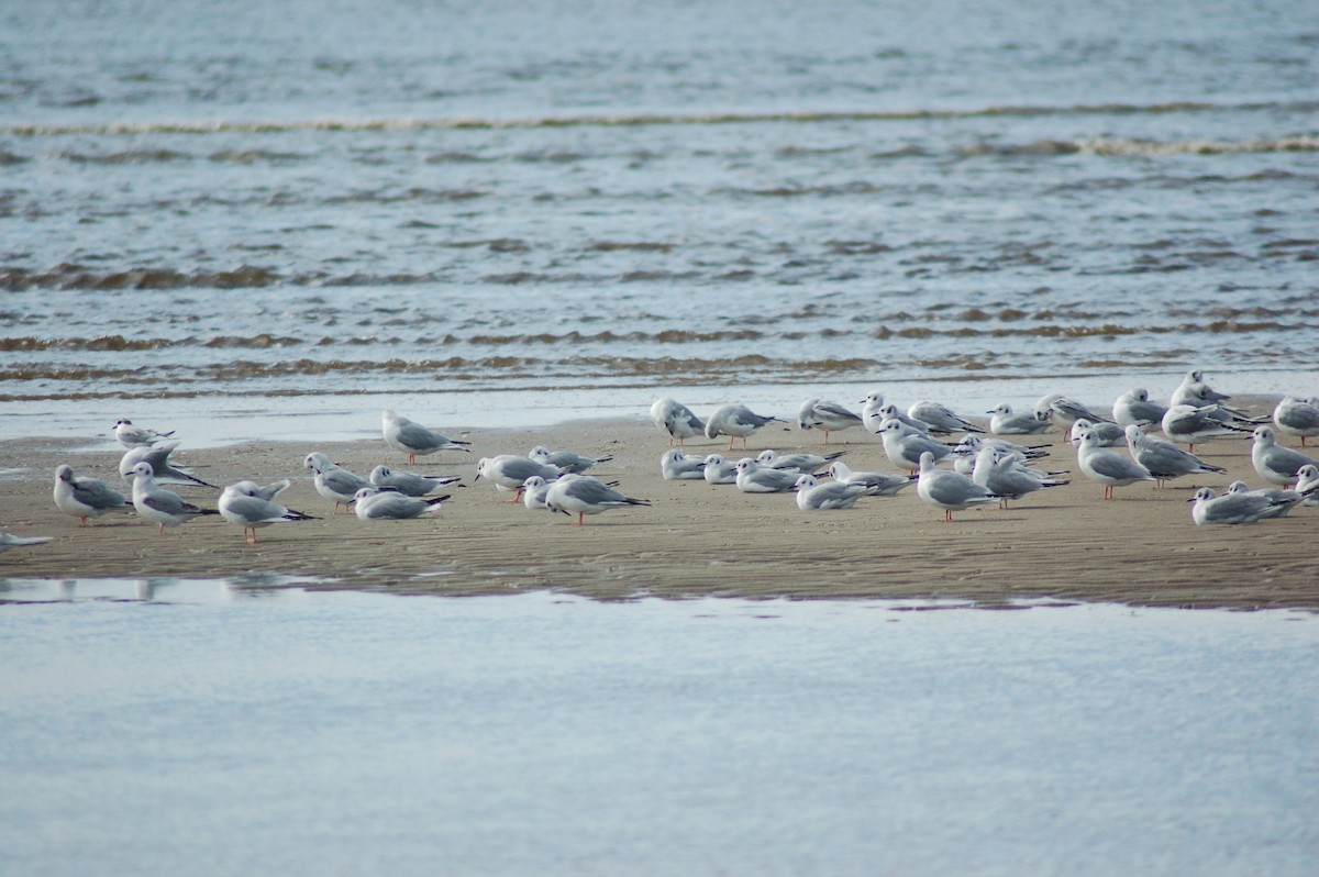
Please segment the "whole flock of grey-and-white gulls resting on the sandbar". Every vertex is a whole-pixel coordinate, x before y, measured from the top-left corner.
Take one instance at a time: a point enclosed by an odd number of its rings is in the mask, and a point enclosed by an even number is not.
[[[798,508],[806,512],[848,509],[861,497],[896,496],[911,485],[921,500],[943,509],[946,521],[952,520],[954,512],[972,506],[1006,508],[1009,501],[1070,483],[1064,477],[1070,471],[1041,468],[1046,466],[1050,446],[1030,443],[1031,435],[1055,427],[1066,429],[1075,447],[1076,469],[1103,485],[1105,500],[1113,497],[1116,488],[1138,481],[1162,487],[1184,476],[1223,475],[1223,468],[1195,455],[1195,446],[1219,437],[1249,437],[1250,462],[1269,487],[1252,489],[1236,481],[1221,496],[1202,487],[1190,500],[1195,504],[1191,510],[1195,524],[1253,524],[1282,517],[1297,505],[1319,505],[1319,460],[1278,442],[1281,433],[1298,438],[1304,448],[1306,439],[1319,435],[1319,398],[1289,396],[1272,417],[1264,418],[1228,406],[1229,398],[1211,388],[1202,372],[1192,371],[1167,405],[1150,400],[1145,389],[1133,389],[1113,402],[1109,417],[1108,411],[1096,413],[1075,400],[1050,394],[1030,411],[997,405],[985,411],[987,427],[936,402],[919,401],[904,411],[878,392],[860,402],[860,411],[818,398],[802,404],[797,415],[799,429],[819,430],[827,447],[832,433],[861,427],[878,437],[896,472],[853,471],[839,459],[840,452],[765,450],[754,458],[733,460],[739,439],[745,451],[747,439],[757,430],[782,422],[744,405],[725,405],[702,419],[686,405],[661,398],[652,406],[650,417],[669,435],[670,450],[660,459],[665,479],[729,484],[744,493],[794,493]],[[125,448],[119,473],[132,481],[131,493],[75,475],[67,464],[55,469],[55,506],[79,518],[82,526],[107,513],[136,512],[164,533],[193,518],[218,514],[241,528],[245,542],[256,543],[261,528],[315,520],[278,502],[278,495],[291,484],[289,479],[265,485],[243,480],[219,488],[170,462],[170,454],[179,446],[171,440],[171,431],[142,429],[125,418],[115,425],[113,434]],[[388,448],[408,455],[410,466],[418,456],[439,451],[471,451],[468,442],[451,439],[392,410],[383,414],[381,435]],[[728,458],[694,455],[674,447],[702,435],[728,437]],[[578,525],[587,514],[650,505],[616,489],[617,483],[587,473],[609,459],[538,446],[525,455],[483,458],[476,464],[475,481],[485,480],[501,492],[514,493],[512,501],[528,509],[575,514]],[[431,514],[450,499],[437,492],[460,483],[455,476],[401,472],[386,466],[377,466],[363,477],[321,451],[307,454],[303,467],[311,473],[317,492],[334,500],[332,514],[338,514],[340,505],[351,505],[363,521]],[[220,489],[216,508],[189,502],[168,484]],[[0,533],[0,551],[49,539]]]

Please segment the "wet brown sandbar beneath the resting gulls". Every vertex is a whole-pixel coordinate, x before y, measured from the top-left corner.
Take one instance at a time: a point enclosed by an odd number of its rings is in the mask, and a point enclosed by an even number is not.
[[[1266,410],[1266,409],[1265,409]],[[434,425],[437,427],[442,425]],[[455,429],[446,431],[455,434]],[[133,513],[107,514],[79,528],[51,500],[54,468],[119,483],[120,450],[95,450],[49,439],[0,444],[4,489],[0,529],[54,541],[0,555],[0,578],[179,576],[245,574],[315,576],[318,588],[367,588],[404,593],[475,595],[561,588],[596,599],[638,595],[692,597],[848,599],[918,597],[1005,605],[1018,599],[1132,605],[1319,609],[1319,576],[1311,553],[1319,508],[1250,526],[1194,526],[1187,500],[1195,487],[1224,488],[1242,479],[1262,487],[1250,467],[1248,440],[1199,446],[1225,476],[1117,488],[1087,480],[1063,437],[1047,468],[1071,469],[1067,487],[1012,504],[955,513],[922,502],[914,488],[893,499],[863,499],[852,510],[803,513],[793,495],[748,496],[732,485],[665,481],[658,459],[667,437],[649,419],[576,422],[553,429],[472,431],[472,452],[443,452],[408,467],[383,442],[339,444],[251,443],[175,451],[207,481],[294,480],[281,495],[289,508],[323,516],[276,525],[245,545],[237,526],[219,517],[157,533]],[[770,425],[751,439],[761,448],[819,452],[820,435]],[[509,504],[487,480],[472,481],[475,462],[525,454],[534,444],[613,456],[594,473],[621,481],[628,496],[652,508],[575,518]],[[1294,442],[1289,440],[1289,444]],[[727,455],[727,439],[692,439],[689,452]],[[740,443],[739,443],[740,447]],[[332,516],[302,469],[311,450],[365,475],[394,469],[463,476],[468,487],[435,517],[359,521]],[[835,433],[828,450],[845,451],[856,469],[894,471],[882,447],[860,429]],[[740,450],[735,452],[741,456]],[[177,489],[214,508],[216,492]],[[125,485],[127,492],[127,485]]]

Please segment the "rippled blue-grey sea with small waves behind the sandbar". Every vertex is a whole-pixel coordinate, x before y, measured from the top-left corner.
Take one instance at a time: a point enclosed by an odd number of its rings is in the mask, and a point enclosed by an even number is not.
[[[1319,392],[1294,4],[756,9],[5,11],[0,438]]]

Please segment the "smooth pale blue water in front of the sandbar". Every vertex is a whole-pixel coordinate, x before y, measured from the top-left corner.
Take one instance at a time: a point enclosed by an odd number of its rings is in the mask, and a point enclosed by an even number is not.
[[[1319,620],[0,582],[7,873],[1310,874]]]

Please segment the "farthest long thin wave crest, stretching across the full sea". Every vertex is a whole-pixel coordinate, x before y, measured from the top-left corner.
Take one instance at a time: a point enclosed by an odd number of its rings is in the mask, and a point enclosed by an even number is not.
[[[1319,102],[1241,102],[1215,103],[1178,100],[1167,103],[1130,104],[1063,104],[1029,106],[1008,104],[972,108],[911,108],[878,111],[822,111],[822,112],[714,112],[714,113],[621,113],[621,115],[565,115],[524,117],[396,117],[396,119],[295,119],[268,121],[113,121],[92,124],[8,124],[0,133],[9,136],[42,137],[67,135],[144,135],[181,133],[203,135],[220,132],[280,133],[280,132],[417,132],[463,129],[516,129],[516,128],[627,128],[648,125],[745,125],[764,123],[814,124],[835,121],[919,121],[929,119],[993,119],[1038,116],[1130,116],[1173,113],[1221,112],[1314,112]],[[445,161],[445,153],[437,153]],[[462,153],[456,153],[462,154]],[[462,158],[459,158],[462,160]],[[567,153],[545,153],[542,161],[572,161]]]

